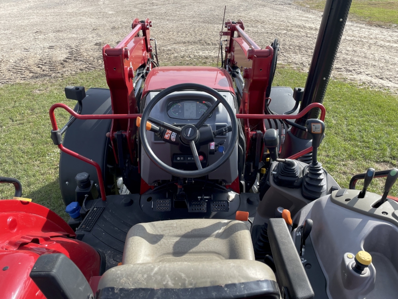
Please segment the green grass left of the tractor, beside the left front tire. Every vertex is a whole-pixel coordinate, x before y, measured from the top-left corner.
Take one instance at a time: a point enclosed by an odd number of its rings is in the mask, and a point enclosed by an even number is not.
[[[0,175],[19,179],[22,196],[32,198],[65,217],[58,184],[59,149],[50,139],[48,110],[54,103],[74,107],[65,98],[64,87],[107,87],[103,71],[80,73],[43,83],[18,83],[0,87]],[[62,127],[69,115],[56,110]],[[0,184],[0,198],[12,198],[13,186]]]

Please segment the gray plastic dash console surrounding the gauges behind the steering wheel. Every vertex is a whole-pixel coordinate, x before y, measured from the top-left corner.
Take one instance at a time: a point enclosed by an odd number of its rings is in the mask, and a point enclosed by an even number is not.
[[[145,107],[148,103],[157,95],[159,92],[153,91],[148,93],[145,100]],[[229,92],[220,92],[222,96],[224,96],[229,104],[234,107],[234,98]],[[215,99],[203,92],[196,91],[184,91],[173,93],[156,104],[154,109],[151,111],[150,116],[169,124],[196,124],[198,120],[179,120],[170,118],[167,115],[167,104],[170,101],[181,100],[182,98],[186,99],[202,99],[206,101],[215,101]],[[230,126],[231,121],[229,115],[224,108],[223,105],[219,105],[212,116],[206,121],[207,125],[211,126],[211,130],[216,130],[216,125]],[[149,146],[154,151],[154,153],[165,162],[167,165],[171,166],[171,147],[175,147],[174,145],[170,145],[163,141],[155,141],[155,134],[153,132],[147,131],[147,138],[149,142]],[[225,139],[224,147],[229,147],[231,142],[231,134],[227,134],[225,137],[216,138],[216,142],[220,142],[222,139]],[[206,147],[207,145],[202,146],[201,148]],[[204,148],[203,148],[204,149]],[[200,151],[200,149],[199,149]],[[204,151],[204,150],[203,150]],[[213,155],[208,156],[208,165],[215,163],[220,157],[222,153],[216,152]],[[238,150],[235,145],[235,149],[232,152],[229,159],[221,165],[218,169],[211,172],[208,175],[209,179],[222,179],[226,184],[231,184],[236,177],[238,176]],[[145,153],[144,149],[141,147],[141,177],[144,181],[146,181],[149,185],[154,185],[157,180],[171,180],[172,175],[163,171],[158,166],[153,163],[148,155]]]

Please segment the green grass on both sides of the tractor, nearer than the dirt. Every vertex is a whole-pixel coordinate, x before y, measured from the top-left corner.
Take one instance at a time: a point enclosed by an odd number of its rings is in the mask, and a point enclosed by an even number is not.
[[[299,87],[305,80],[305,73],[279,68],[274,85]],[[88,89],[106,87],[106,82],[103,71],[43,81],[0,87],[0,175],[16,177],[22,183],[23,197],[65,218],[58,185],[59,150],[50,140],[48,109],[57,102],[74,107],[75,101],[65,99],[67,85]],[[319,159],[341,186],[347,187],[353,174],[368,167],[381,170],[397,166],[398,97],[330,80],[324,105],[326,138]],[[60,126],[65,124],[67,113],[57,111],[56,115]],[[375,180],[370,190],[382,193],[383,185],[383,179]],[[397,186],[393,196],[398,196]],[[12,185],[1,184],[0,198],[12,196]]]

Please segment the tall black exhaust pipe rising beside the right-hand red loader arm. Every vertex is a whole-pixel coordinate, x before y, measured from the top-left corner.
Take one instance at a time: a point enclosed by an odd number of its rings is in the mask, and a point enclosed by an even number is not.
[[[299,112],[311,103],[323,102],[351,1],[326,0]],[[307,119],[317,118],[318,115],[319,109],[312,109],[304,117],[296,120],[296,123],[305,126]],[[293,127],[286,136],[281,157],[288,157],[305,149],[310,139],[310,134]]]

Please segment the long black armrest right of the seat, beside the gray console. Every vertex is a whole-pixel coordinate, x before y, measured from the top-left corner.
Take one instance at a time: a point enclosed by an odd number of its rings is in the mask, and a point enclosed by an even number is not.
[[[314,298],[311,284],[283,218],[271,218],[269,220],[268,238],[279,284],[281,287],[286,287],[289,298]]]

